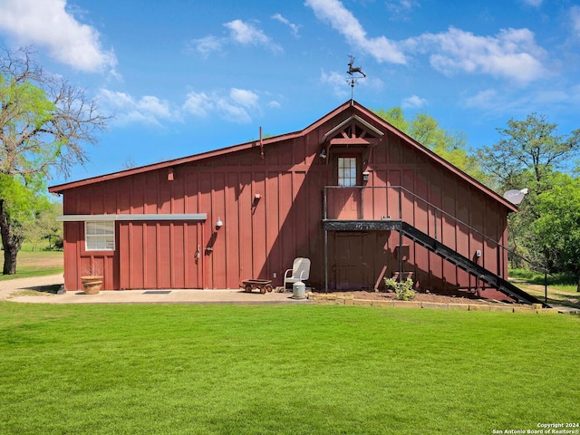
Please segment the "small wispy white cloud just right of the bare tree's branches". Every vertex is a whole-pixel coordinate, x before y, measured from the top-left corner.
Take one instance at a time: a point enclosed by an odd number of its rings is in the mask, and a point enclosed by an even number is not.
[[[161,121],[179,119],[179,114],[170,110],[169,102],[150,95],[136,100],[125,92],[102,89],[99,102],[105,109],[115,112],[114,120],[121,125],[141,123],[160,127]]]

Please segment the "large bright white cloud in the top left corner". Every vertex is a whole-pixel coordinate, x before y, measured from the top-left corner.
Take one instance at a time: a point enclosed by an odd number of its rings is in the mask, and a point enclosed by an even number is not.
[[[66,11],[66,0],[0,2],[0,31],[19,44],[46,47],[58,62],[97,73],[114,73],[117,59],[102,48],[99,32]]]

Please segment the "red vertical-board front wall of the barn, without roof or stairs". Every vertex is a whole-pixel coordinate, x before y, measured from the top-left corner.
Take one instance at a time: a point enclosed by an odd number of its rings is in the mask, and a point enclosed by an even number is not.
[[[339,113],[304,136],[269,143],[264,158],[256,146],[175,166],[172,180],[169,169],[161,168],[63,190],[65,215],[208,214],[205,222],[117,222],[116,250],[108,253],[85,251],[84,224],[65,222],[65,287],[80,288],[83,269],[91,264],[102,266],[106,289],[237,288],[247,278],[282,285],[293,259],[307,256],[310,284],[324,288],[323,188],[336,183],[333,161],[343,152],[358,155],[361,169],[370,172],[366,186],[402,186],[507,245],[507,208],[400,136],[385,131],[372,150],[331,148],[328,164],[318,157],[324,133],[348,116]],[[366,121],[384,130],[380,122]],[[403,194],[401,204],[404,220],[433,237],[437,231],[438,239],[464,256],[481,250],[480,264],[507,275],[507,256],[482,237],[411,195]],[[362,207],[362,218],[396,218],[399,194],[365,189]],[[218,218],[224,226],[217,230]],[[398,270],[394,231],[328,236],[331,288],[382,286],[382,276]],[[478,285],[425,248],[406,238],[403,243],[405,270],[421,287]]]

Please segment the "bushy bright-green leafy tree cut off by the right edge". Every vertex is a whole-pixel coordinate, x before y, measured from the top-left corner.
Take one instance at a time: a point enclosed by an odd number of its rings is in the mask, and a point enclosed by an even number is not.
[[[553,181],[555,186],[536,198],[539,218],[532,230],[548,266],[575,275],[580,292],[580,179],[559,174]]]

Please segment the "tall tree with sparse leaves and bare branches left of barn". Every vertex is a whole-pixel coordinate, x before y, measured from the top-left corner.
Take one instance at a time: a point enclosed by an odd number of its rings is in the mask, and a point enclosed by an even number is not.
[[[0,58],[0,232],[5,250],[3,273],[16,272],[16,256],[24,237],[25,217],[35,213],[34,201],[57,170],[65,177],[73,164],[83,164],[85,143],[110,118],[97,110],[81,88],[44,73],[31,48]]]

